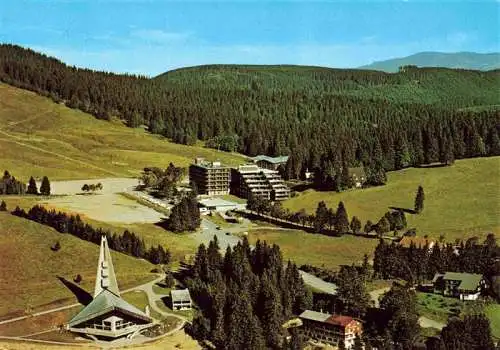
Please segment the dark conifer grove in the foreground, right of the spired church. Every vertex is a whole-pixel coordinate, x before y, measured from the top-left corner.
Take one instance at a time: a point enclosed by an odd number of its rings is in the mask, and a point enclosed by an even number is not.
[[[183,279],[199,308],[190,331],[217,349],[284,349],[283,323],[312,302],[278,246],[258,241],[251,249],[246,238],[225,255],[216,237],[200,245]]]

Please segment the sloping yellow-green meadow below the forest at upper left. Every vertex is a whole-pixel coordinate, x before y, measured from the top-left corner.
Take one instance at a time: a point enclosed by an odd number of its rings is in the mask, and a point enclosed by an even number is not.
[[[237,165],[238,154],[168,142],[0,83],[0,164],[20,179],[132,177],[145,166],[187,166],[195,157]]]

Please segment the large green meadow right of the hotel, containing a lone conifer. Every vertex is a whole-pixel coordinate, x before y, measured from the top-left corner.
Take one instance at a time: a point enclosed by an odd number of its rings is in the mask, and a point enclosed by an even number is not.
[[[424,211],[407,215],[418,235],[448,241],[466,236],[500,234],[500,157],[459,160],[451,167],[411,168],[388,173],[387,184],[342,193],[308,190],[284,203],[313,213],[319,201],[336,208],[343,201],[349,217],[363,225],[377,222],[390,206],[413,209],[417,187],[425,191]]]

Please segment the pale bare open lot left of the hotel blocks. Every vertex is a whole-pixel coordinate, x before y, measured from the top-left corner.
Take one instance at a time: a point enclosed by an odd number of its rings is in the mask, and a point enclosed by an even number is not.
[[[103,189],[93,194],[82,194],[84,184],[101,183]],[[40,184],[38,184],[39,186]],[[83,214],[104,222],[155,223],[164,217],[161,213],[121,196],[120,192],[137,185],[137,179],[107,178],[93,180],[51,182],[51,194],[64,195],[43,201],[43,204]]]

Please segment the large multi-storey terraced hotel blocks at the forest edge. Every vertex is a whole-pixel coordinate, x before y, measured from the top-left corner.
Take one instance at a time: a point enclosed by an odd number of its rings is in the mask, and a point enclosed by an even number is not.
[[[198,194],[218,196],[234,194],[241,198],[257,196],[272,201],[290,197],[290,189],[278,172],[288,157],[257,156],[254,163],[230,168],[220,162],[196,158],[189,167],[189,181],[196,185]]]

